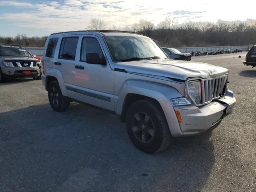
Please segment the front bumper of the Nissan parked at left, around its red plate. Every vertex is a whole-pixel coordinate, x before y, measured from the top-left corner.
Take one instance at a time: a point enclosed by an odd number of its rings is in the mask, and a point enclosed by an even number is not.
[[[37,66],[29,68],[1,68],[1,70],[7,78],[36,78],[40,75],[40,69]],[[24,74],[23,71],[30,71],[30,74]]]

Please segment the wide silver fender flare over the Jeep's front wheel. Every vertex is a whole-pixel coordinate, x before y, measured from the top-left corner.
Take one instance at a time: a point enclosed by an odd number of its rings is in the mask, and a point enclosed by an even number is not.
[[[166,115],[172,136],[183,135],[174,108],[170,102],[171,98],[182,97],[176,89],[164,84],[143,80],[126,80],[122,84],[118,96],[115,94],[115,111],[118,115],[122,114],[122,107],[127,94],[140,94],[157,100]]]

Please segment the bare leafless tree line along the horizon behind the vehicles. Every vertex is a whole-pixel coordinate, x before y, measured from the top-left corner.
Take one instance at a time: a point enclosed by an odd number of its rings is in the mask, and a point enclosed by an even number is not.
[[[123,30],[149,36],[161,46],[197,47],[197,46],[236,46],[256,44],[256,20],[212,22],[185,22],[178,24],[177,18],[166,17],[156,26],[147,19],[125,27],[107,26],[104,20],[94,18],[87,26],[88,30]],[[43,47],[47,36],[18,34],[15,37],[0,36],[1,44],[20,44],[22,46]]]

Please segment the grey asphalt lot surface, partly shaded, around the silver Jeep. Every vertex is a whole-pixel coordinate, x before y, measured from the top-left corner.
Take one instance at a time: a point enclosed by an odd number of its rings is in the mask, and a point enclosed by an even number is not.
[[[245,54],[192,57],[230,70],[237,104],[211,135],[154,155],[104,110],[54,112],[40,80],[0,84],[0,192],[255,192],[256,68]]]

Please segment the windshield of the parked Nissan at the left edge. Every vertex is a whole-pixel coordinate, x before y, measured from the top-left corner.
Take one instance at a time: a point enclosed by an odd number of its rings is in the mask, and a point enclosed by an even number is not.
[[[24,48],[0,47],[0,56],[31,57]]]

